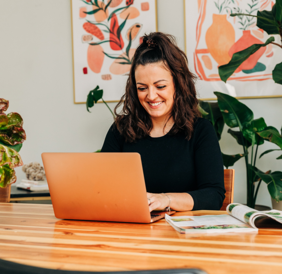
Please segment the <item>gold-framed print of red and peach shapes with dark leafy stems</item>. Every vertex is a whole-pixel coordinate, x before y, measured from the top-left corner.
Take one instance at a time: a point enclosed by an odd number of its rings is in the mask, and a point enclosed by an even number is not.
[[[157,30],[156,0],[72,0],[74,103],[97,85],[119,101],[144,33]]]

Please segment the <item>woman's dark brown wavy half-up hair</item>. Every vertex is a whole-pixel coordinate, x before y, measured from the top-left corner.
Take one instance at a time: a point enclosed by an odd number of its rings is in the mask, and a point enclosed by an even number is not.
[[[169,69],[175,86],[174,104],[169,117],[174,119],[174,125],[168,134],[184,132],[186,139],[189,140],[196,118],[201,117],[195,88],[197,77],[188,69],[187,57],[177,46],[175,37],[162,32],[145,34],[143,42],[137,47],[132,58],[125,94],[114,109],[115,124],[127,142],[148,136],[153,128],[150,115],[138,99],[135,70],[139,65],[159,62],[163,62]],[[122,104],[122,111],[118,114],[117,110]]]

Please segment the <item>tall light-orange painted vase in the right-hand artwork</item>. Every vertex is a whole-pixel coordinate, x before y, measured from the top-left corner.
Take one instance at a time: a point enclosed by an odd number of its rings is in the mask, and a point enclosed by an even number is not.
[[[208,51],[219,66],[229,63],[231,57],[228,52],[235,43],[235,31],[226,14],[212,15],[212,24],[205,38]]]

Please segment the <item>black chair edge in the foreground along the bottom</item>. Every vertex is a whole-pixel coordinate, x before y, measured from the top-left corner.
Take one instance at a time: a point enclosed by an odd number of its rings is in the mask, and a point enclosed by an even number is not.
[[[111,271],[111,272],[89,272],[47,269],[29,265],[17,264],[0,259],[1,274],[207,274],[199,269],[163,269],[142,271]]]

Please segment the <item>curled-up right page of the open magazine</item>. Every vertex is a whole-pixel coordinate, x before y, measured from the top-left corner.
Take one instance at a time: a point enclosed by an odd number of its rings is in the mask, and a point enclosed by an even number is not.
[[[255,220],[258,217],[270,217],[282,223],[282,211],[279,210],[258,211],[242,204],[232,203],[226,207],[226,211],[231,216],[243,221],[253,228],[256,228]]]

